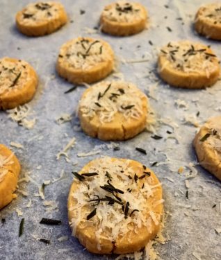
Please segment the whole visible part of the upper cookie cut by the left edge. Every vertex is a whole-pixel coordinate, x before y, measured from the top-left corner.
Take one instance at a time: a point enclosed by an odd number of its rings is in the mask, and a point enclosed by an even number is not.
[[[11,109],[31,101],[37,85],[37,74],[28,62],[7,57],[0,59],[0,109]]]

